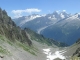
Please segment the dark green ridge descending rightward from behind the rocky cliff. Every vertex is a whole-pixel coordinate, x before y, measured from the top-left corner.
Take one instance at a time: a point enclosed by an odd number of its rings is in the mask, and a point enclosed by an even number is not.
[[[59,47],[64,47],[67,46],[65,43],[62,42],[57,42],[53,39],[45,38],[43,35],[39,35],[35,33],[34,31],[30,30],[29,28],[25,28],[25,31],[31,36],[31,40],[35,40],[41,44],[47,44],[48,46],[59,46]]]

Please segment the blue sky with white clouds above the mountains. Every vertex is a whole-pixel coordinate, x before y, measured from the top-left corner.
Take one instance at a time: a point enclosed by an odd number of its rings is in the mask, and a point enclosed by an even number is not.
[[[74,14],[80,12],[80,0],[0,0],[0,7],[12,18],[54,11]]]

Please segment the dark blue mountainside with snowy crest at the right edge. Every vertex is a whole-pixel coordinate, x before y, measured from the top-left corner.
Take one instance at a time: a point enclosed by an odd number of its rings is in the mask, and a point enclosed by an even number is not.
[[[71,45],[80,38],[79,14],[58,21],[56,24],[46,28],[41,33],[46,37],[54,38]]]

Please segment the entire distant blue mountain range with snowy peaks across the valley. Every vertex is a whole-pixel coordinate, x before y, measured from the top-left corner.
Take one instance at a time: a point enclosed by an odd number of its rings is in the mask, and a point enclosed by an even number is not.
[[[51,14],[32,14],[13,19],[22,29],[30,28],[47,38],[73,44],[80,38],[80,13],[54,11]]]

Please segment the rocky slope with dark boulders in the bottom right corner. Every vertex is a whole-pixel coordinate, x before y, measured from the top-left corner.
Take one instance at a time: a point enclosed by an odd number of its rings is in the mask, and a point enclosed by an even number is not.
[[[80,39],[76,41],[73,45],[66,47],[64,49],[66,52],[64,56],[67,57],[68,60],[79,60],[80,59]]]

